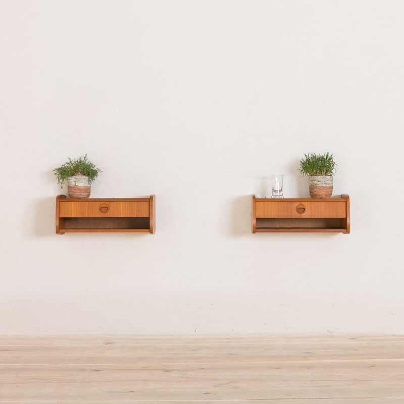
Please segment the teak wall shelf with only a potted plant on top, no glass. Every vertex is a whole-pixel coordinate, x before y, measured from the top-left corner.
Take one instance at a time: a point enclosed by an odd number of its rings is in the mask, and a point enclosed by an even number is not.
[[[81,199],[56,197],[56,233],[156,231],[156,196]]]

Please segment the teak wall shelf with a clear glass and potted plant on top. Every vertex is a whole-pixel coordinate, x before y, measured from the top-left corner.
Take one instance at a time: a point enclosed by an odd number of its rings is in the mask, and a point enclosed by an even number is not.
[[[340,198],[256,198],[252,195],[252,233],[349,233],[349,196]]]

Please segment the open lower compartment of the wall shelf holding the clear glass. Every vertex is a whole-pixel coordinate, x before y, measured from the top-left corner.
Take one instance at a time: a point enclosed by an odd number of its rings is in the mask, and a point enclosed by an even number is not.
[[[257,233],[275,232],[305,232],[305,233],[346,233],[346,219],[342,218],[316,218],[316,219],[294,219],[294,218],[257,218]]]

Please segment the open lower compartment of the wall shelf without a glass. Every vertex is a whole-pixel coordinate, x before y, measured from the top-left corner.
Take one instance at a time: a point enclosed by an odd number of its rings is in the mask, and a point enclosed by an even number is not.
[[[60,218],[63,232],[148,232],[150,219],[145,218]]]

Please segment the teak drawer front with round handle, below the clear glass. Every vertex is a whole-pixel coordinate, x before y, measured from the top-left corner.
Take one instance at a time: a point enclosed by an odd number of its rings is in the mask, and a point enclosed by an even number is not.
[[[282,202],[256,203],[257,218],[345,218],[346,204],[338,202]]]

